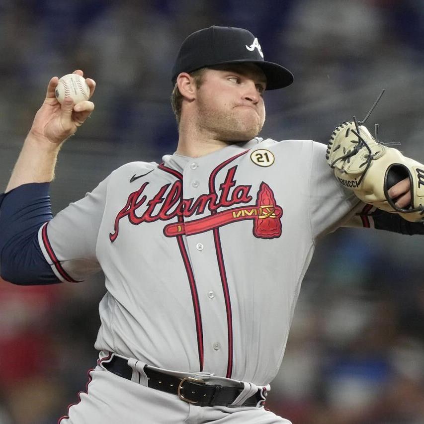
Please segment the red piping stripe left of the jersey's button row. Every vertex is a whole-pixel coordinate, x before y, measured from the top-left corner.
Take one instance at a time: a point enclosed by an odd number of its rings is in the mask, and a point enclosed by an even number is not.
[[[170,173],[174,177],[182,180],[182,174],[176,170],[166,167],[164,164],[158,165],[160,170]],[[181,200],[182,191],[181,191]],[[182,215],[178,216],[178,223],[184,225],[184,218]],[[181,253],[182,261],[184,262],[185,271],[187,273],[188,282],[190,284],[191,298],[193,300],[193,309],[194,309],[194,320],[196,323],[196,334],[197,334],[197,350],[199,353],[199,367],[200,372],[203,371],[203,362],[204,362],[204,350],[203,350],[203,327],[202,327],[202,317],[200,314],[200,304],[199,296],[197,293],[196,281],[194,279],[193,269],[191,268],[190,259],[188,258],[187,251],[184,246],[184,239],[182,234],[176,237],[178,248]]]

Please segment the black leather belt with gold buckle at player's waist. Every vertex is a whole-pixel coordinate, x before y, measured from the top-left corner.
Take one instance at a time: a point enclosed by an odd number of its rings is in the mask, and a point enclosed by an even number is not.
[[[126,359],[113,356],[109,362],[101,362],[101,365],[108,371],[131,380],[133,370]],[[144,372],[148,378],[148,387],[177,395],[183,401],[197,406],[229,406],[242,393],[244,388],[243,383],[240,383],[239,387],[225,387],[217,384],[206,384],[200,378],[179,378],[149,368],[147,365],[144,367]],[[266,390],[261,388],[240,406],[260,407],[265,402],[265,396]]]

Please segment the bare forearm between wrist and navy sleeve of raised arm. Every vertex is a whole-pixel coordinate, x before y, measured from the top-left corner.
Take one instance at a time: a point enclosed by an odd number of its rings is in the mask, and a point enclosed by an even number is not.
[[[60,147],[61,144],[53,144],[30,132],[25,139],[5,192],[22,184],[52,181]]]

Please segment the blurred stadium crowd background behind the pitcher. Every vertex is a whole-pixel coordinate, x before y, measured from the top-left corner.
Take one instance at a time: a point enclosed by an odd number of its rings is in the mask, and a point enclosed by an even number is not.
[[[266,93],[263,135],[325,143],[385,88],[367,125],[424,162],[422,0],[0,0],[2,190],[47,82],[77,68],[97,82],[96,110],[61,152],[55,212],[120,165],[172,153],[170,69],[185,36],[212,24],[251,30],[295,75]],[[318,245],[269,409],[294,424],[424,423],[423,246],[365,229]],[[103,294],[101,275],[0,281],[0,424],[56,423],[76,402]]]

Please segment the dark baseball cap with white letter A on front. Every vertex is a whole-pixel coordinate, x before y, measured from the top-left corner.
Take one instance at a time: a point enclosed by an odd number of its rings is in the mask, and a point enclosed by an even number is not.
[[[254,63],[266,76],[266,89],[283,88],[293,83],[293,74],[276,63],[263,59],[257,38],[243,28],[210,26],[190,34],[181,44],[172,68],[172,84],[181,72],[226,63]]]

